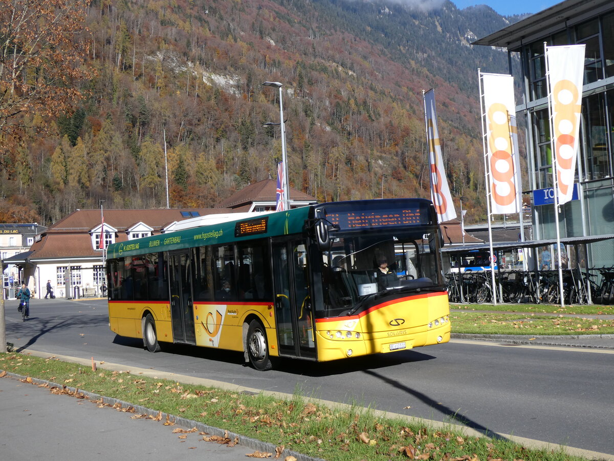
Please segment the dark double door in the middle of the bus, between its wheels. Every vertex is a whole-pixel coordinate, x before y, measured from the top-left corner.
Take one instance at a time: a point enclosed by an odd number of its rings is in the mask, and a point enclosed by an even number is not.
[[[173,342],[196,344],[190,255],[188,253],[169,254],[168,266],[171,283]]]

